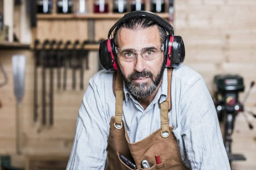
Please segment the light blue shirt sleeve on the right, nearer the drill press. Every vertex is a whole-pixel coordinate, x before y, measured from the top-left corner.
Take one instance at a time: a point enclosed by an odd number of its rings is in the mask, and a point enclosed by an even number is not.
[[[215,106],[202,77],[182,96],[181,127],[192,170],[230,170]]]

